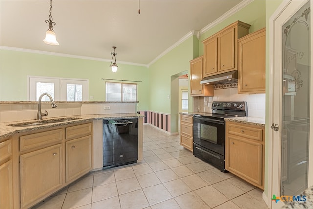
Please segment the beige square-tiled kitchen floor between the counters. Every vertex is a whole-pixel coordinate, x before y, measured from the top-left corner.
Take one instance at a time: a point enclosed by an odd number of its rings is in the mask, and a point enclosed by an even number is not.
[[[37,208],[267,209],[262,191],[194,157],[168,135],[144,125],[141,163],[90,172]]]

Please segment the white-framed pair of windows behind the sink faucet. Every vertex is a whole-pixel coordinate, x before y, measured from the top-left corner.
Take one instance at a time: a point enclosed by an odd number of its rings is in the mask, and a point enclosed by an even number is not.
[[[28,100],[38,101],[39,96],[48,93],[55,101],[87,101],[87,79],[63,79],[28,76]],[[42,101],[49,101],[44,96]]]

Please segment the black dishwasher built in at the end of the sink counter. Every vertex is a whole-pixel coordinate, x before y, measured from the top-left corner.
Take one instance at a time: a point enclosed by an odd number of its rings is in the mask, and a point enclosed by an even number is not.
[[[137,163],[138,118],[103,120],[103,169]]]

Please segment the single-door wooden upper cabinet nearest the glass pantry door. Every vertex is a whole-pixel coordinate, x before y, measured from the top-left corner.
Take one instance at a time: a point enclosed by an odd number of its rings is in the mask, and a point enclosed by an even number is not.
[[[265,28],[238,40],[238,93],[265,93]]]

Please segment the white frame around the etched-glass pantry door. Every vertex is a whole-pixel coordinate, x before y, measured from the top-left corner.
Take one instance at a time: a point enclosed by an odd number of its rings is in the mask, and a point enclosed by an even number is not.
[[[289,20],[308,0],[283,1],[269,19],[269,119],[268,119],[268,196],[269,208],[281,208],[282,201],[274,203],[271,198],[273,194],[280,193],[280,167],[281,167],[281,132],[270,128],[272,123],[282,124],[280,107],[275,104],[282,102],[282,25],[283,20]],[[311,1],[311,7],[313,3]],[[284,14],[283,14],[284,13]],[[310,12],[311,34],[313,29],[313,15]],[[312,36],[312,35],[311,35]],[[313,40],[311,39],[311,57],[313,54]],[[278,52],[278,53],[277,53]],[[278,70],[276,70],[278,69]],[[310,103],[313,104],[313,59],[311,59],[310,73]],[[279,90],[274,92],[274,90]],[[278,94],[278,95],[277,95]],[[308,186],[313,185],[313,109],[310,110],[310,137],[309,137],[309,177]]]

